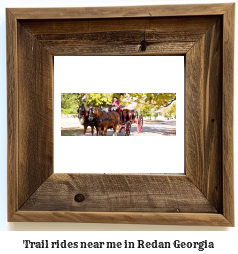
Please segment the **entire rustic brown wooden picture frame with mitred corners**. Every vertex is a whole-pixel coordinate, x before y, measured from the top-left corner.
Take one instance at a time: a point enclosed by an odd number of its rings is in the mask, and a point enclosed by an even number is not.
[[[233,3],[6,9],[8,221],[234,226],[234,12]],[[61,55],[184,55],[186,174],[55,174]]]

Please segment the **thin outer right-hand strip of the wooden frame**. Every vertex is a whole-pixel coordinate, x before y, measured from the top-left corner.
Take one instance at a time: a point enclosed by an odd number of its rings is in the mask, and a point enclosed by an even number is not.
[[[234,25],[235,4],[223,16],[223,214],[234,225]]]

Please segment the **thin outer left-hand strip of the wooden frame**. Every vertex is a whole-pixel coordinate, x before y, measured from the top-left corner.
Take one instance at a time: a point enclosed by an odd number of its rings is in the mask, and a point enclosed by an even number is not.
[[[18,58],[17,20],[6,11],[8,220],[18,210]]]

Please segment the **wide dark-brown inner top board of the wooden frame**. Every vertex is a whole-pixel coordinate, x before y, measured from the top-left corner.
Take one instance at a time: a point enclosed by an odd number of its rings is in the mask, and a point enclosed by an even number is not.
[[[217,16],[208,16],[23,20],[21,24],[55,56],[183,55],[217,19]],[[141,51],[141,42],[144,40],[147,48]]]

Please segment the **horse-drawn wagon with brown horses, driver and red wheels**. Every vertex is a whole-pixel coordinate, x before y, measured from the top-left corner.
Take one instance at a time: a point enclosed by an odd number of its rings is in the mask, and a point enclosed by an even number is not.
[[[139,114],[136,109],[121,109],[111,107],[110,110],[105,111],[96,107],[85,107],[80,105],[78,109],[79,120],[84,125],[84,135],[88,126],[91,126],[91,132],[93,135],[94,127],[97,130],[97,135],[107,136],[107,129],[112,128],[114,130],[114,136],[117,133],[121,133],[125,130],[125,136],[129,136],[131,133],[131,125],[137,125],[137,132],[141,133],[143,128],[143,116]]]

